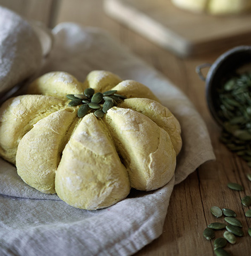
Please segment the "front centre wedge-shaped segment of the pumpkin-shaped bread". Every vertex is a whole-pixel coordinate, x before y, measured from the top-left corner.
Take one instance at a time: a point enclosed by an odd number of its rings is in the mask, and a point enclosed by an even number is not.
[[[66,145],[55,183],[62,200],[88,210],[111,206],[129,194],[127,170],[93,114],[83,117]]]

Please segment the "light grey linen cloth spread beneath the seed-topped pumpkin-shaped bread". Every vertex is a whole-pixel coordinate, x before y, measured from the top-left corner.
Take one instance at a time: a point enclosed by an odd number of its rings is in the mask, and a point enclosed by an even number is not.
[[[161,235],[174,184],[214,159],[207,128],[178,88],[107,32],[70,23],[52,32],[54,47],[40,74],[66,71],[83,81],[91,70],[108,70],[142,82],[178,118],[183,148],[175,176],[166,186],[151,192],[132,190],[123,201],[95,211],[36,191],[22,182],[13,165],[0,159],[0,255],[134,254]]]

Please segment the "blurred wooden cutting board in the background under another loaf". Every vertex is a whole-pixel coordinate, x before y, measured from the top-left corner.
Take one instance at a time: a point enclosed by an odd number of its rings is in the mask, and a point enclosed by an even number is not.
[[[251,14],[215,17],[178,9],[171,0],[105,0],[105,12],[181,56],[251,45]]]

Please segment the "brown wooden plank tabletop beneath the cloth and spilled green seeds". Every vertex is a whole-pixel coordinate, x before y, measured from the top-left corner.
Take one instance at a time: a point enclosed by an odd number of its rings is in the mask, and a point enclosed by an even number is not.
[[[251,218],[245,217],[244,213],[248,207],[243,207],[240,202],[245,194],[251,195],[251,182],[246,178],[246,174],[251,170],[246,162],[229,152],[219,142],[221,129],[208,111],[205,83],[195,73],[196,66],[206,62],[213,63],[223,51],[208,56],[178,57],[107,17],[101,0],[61,0],[56,23],[64,21],[107,29],[135,55],[162,72],[189,97],[206,122],[210,133],[216,161],[201,165],[184,182],[175,186],[163,234],[135,255],[214,255],[213,242],[202,236],[207,224],[217,221],[210,213],[211,206],[234,210],[244,226],[244,237],[238,237],[236,244],[228,244],[225,249],[233,256],[251,255],[251,237],[247,233],[247,229],[251,228]],[[245,192],[228,189],[226,184],[229,182],[242,184]],[[223,221],[223,217],[219,221]],[[223,231],[216,232],[216,237],[222,235]]]

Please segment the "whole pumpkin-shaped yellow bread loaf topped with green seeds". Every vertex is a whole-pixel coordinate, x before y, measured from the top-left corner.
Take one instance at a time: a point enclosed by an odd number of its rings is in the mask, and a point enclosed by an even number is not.
[[[83,83],[44,74],[0,109],[1,156],[25,183],[77,208],[111,206],[131,187],[162,187],[181,147],[177,119],[150,89],[107,71]]]

